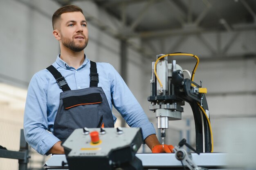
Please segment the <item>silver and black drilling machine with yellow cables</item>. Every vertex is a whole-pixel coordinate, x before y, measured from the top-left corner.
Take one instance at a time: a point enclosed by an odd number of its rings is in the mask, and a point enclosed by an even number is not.
[[[168,63],[168,56],[186,55],[195,57],[197,62],[192,72],[191,79],[184,79],[182,67],[176,64],[176,60]],[[164,146],[165,130],[168,121],[182,119],[185,102],[189,103],[195,120],[195,136],[197,152],[213,152],[213,137],[209,109],[205,93],[206,88],[193,82],[199,58],[188,53],[171,53],[157,55],[157,60],[152,62],[151,73],[151,102],[149,110],[157,117],[157,128],[161,129],[162,144]]]

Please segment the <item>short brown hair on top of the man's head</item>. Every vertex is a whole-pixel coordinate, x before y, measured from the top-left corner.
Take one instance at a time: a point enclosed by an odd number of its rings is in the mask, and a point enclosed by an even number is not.
[[[54,14],[52,15],[52,28],[53,29],[54,29],[54,24],[61,17],[61,14],[67,13],[67,12],[83,13],[83,10],[81,8],[77,7],[76,5],[65,5],[65,6],[57,9],[57,11],[55,11]]]

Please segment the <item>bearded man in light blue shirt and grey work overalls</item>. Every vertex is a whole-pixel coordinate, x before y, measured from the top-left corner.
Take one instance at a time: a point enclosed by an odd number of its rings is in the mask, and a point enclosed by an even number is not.
[[[171,152],[168,146],[162,148],[153,125],[115,68],[94,63],[84,54],[88,29],[83,11],[74,5],[61,7],[52,25],[61,54],[29,83],[24,115],[28,144],[42,155],[64,154],[61,142],[74,129],[114,127],[114,105],[129,126],[141,127],[153,152]]]

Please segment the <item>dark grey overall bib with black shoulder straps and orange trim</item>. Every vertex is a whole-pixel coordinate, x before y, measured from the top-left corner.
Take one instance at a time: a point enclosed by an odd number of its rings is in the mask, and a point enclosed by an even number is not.
[[[79,90],[70,90],[61,73],[52,65],[47,67],[63,91],[60,93],[53,132],[61,141],[65,141],[77,128],[114,127],[107,97],[103,89],[98,87],[97,65],[92,61],[90,64],[90,87]]]

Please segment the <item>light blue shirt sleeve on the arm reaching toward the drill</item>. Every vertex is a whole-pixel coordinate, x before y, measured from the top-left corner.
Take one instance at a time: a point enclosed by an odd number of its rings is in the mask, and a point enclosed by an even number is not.
[[[122,77],[112,65],[110,65],[110,70],[112,71],[111,95],[113,106],[130,127],[141,128],[144,140],[149,135],[156,134],[153,124],[148,120],[146,113]]]

